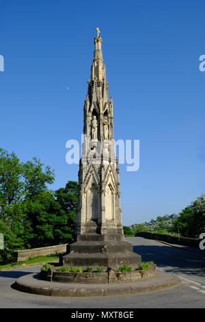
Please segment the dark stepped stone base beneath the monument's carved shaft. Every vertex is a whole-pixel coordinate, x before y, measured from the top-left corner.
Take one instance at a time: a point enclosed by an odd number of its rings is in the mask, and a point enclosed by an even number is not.
[[[59,258],[59,264],[75,267],[101,267],[118,270],[124,264],[137,269],[141,256],[133,253],[133,245],[124,240],[122,234],[82,234],[77,242],[68,245],[66,254]]]

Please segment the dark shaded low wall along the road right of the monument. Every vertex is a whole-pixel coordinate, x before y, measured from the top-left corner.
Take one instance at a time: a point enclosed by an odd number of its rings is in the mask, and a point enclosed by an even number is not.
[[[135,236],[144,237],[148,239],[162,240],[162,241],[165,241],[166,243],[184,245],[184,246],[190,246],[190,247],[199,247],[200,240],[202,240],[197,238],[189,238],[189,237],[181,237],[181,236],[180,238],[178,238],[178,236],[174,236],[174,235],[153,234],[152,232],[139,232],[135,234]]]

